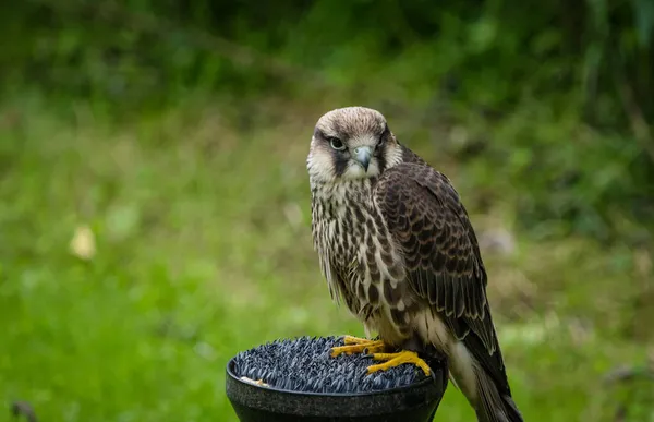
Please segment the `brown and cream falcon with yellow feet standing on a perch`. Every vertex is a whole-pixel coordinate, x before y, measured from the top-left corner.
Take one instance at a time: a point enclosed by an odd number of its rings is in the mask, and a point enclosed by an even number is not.
[[[364,107],[317,122],[307,170],[312,232],[331,298],[379,340],[346,336],[341,353],[373,353],[368,373],[447,359],[483,422],[522,421],[486,298],[486,270],[449,179],[400,144]],[[423,354],[425,355],[425,354]]]

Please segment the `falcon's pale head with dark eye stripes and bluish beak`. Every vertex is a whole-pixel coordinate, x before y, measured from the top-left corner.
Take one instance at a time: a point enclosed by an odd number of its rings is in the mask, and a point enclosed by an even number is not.
[[[316,123],[306,167],[312,183],[376,178],[402,159],[402,149],[379,111],[347,107]]]

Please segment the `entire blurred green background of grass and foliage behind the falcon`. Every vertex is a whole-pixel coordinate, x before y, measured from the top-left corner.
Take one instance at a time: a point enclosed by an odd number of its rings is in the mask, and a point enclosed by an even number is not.
[[[235,421],[238,351],[362,335],[305,170],[350,105],[461,193],[525,420],[654,421],[652,0],[0,9],[0,421]]]

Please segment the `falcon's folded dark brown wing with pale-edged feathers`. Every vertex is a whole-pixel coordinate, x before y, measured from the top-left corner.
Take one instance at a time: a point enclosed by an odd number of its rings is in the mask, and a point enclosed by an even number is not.
[[[415,293],[435,306],[460,340],[472,330],[475,338],[469,341],[485,352],[477,359],[488,359],[498,346],[486,301],[486,270],[449,180],[426,165],[401,164],[379,178],[375,201],[401,245]],[[502,369],[499,352],[495,359],[499,362],[486,363]]]

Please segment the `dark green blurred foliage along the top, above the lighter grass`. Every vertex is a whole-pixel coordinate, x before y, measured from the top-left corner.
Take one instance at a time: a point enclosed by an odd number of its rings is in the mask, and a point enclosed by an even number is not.
[[[242,103],[322,88],[429,110],[426,124],[508,122],[458,158],[481,155],[494,166],[481,172],[510,181],[522,227],[651,241],[634,227],[654,215],[650,0],[29,0],[0,24],[4,89],[123,114],[193,92]]]

